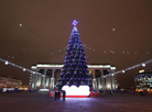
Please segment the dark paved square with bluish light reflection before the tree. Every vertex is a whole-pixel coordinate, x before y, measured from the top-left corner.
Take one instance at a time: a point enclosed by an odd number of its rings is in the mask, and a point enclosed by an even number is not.
[[[0,112],[152,112],[152,96],[115,93],[55,101],[47,93],[0,93]]]

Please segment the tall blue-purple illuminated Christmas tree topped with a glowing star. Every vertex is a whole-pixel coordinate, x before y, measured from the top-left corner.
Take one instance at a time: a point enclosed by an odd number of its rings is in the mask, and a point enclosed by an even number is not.
[[[59,89],[66,85],[91,87],[91,79],[86,63],[85,51],[76,27],[77,23],[78,22],[76,20],[73,21],[74,27],[69,37],[61,78],[58,80]]]

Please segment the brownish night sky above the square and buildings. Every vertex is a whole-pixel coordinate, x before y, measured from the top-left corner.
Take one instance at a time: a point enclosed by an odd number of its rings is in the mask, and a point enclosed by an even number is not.
[[[88,64],[122,70],[152,59],[152,0],[0,0],[0,57],[26,68],[64,63],[75,19]],[[133,86],[139,69],[152,64],[119,74],[120,87]],[[30,77],[1,61],[0,75]]]

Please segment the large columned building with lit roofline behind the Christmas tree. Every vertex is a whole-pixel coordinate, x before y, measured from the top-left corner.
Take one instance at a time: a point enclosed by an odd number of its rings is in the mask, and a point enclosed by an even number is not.
[[[37,64],[31,69],[35,71],[30,77],[30,88],[33,89],[54,89],[58,82],[63,64]],[[115,90],[117,89],[116,76],[109,76],[116,71],[116,67],[109,64],[90,64],[88,70],[93,79],[94,90]],[[36,74],[40,72],[40,74]]]

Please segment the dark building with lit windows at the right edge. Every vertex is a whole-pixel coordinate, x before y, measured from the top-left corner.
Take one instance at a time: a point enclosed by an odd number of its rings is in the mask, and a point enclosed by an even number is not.
[[[148,90],[152,92],[152,71],[138,74],[134,77],[134,83],[137,91]]]

